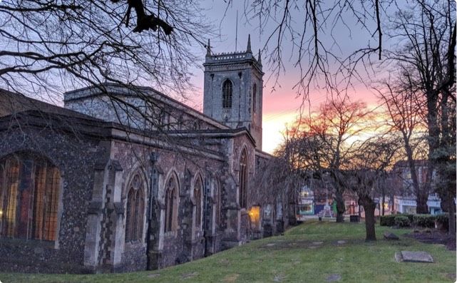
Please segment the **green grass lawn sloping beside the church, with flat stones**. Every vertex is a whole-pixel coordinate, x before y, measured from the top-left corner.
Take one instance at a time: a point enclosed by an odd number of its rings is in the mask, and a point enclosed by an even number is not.
[[[416,242],[392,230],[387,242],[376,227],[377,242],[364,242],[362,223],[306,222],[284,236],[250,242],[194,262],[148,272],[124,274],[1,274],[12,282],[454,282],[456,252],[443,245]],[[344,240],[343,244],[338,241]],[[314,242],[314,243],[313,243]],[[319,245],[318,242],[323,242]],[[430,252],[434,263],[396,263],[401,250]]]

